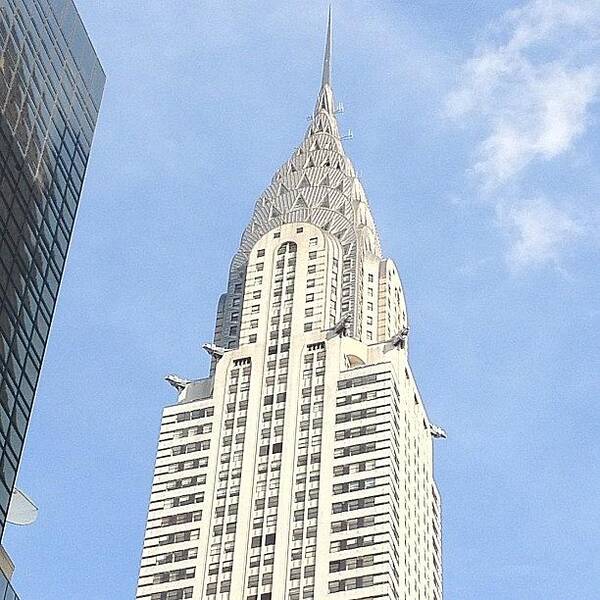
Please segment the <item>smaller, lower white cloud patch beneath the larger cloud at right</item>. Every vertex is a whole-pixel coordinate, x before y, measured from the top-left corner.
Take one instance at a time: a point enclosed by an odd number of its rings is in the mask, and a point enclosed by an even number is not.
[[[514,269],[548,262],[559,266],[561,253],[583,233],[572,216],[544,198],[499,208],[498,218],[511,236],[507,259]]]

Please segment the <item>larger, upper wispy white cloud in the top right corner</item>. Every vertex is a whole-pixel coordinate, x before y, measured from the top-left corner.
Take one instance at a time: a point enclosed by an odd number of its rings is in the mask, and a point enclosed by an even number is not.
[[[446,105],[453,118],[484,118],[473,170],[488,189],[569,150],[600,91],[600,0],[534,0],[502,23]]]

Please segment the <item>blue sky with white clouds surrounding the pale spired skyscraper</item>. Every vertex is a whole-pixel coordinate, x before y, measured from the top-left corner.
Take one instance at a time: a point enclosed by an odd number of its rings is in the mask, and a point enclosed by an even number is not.
[[[132,598],[164,375],[203,376],[326,2],[78,0],[107,87],[5,542],[23,598]],[[407,294],[447,600],[597,600],[600,0],[334,10],[341,128]]]

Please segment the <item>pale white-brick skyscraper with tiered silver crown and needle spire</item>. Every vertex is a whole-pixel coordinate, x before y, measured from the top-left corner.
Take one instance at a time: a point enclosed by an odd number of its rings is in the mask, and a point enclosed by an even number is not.
[[[439,600],[433,426],[404,292],[342,146],[331,21],[306,135],[258,200],[210,376],[167,380],[137,600]]]

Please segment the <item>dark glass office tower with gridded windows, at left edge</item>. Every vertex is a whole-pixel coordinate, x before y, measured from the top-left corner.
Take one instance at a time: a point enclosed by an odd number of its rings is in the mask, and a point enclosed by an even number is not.
[[[104,81],[71,0],[0,0],[0,537]]]

